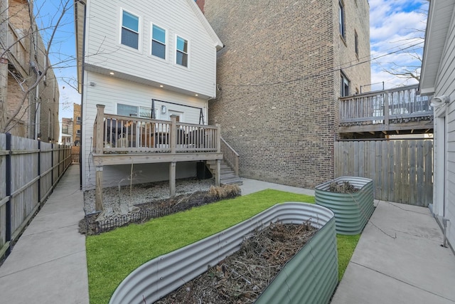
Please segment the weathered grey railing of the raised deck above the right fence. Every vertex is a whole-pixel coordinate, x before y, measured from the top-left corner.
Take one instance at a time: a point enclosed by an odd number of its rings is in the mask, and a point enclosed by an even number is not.
[[[340,98],[340,125],[375,125],[430,120],[432,96],[417,94],[418,85]]]

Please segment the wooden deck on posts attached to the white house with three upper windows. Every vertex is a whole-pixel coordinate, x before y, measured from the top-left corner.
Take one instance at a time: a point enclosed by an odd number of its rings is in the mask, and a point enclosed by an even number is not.
[[[102,210],[102,171],[105,165],[169,163],[170,194],[176,194],[176,163],[215,160],[215,184],[220,184],[223,159],[220,125],[194,125],[106,114],[97,105],[92,158],[96,166],[96,210]]]

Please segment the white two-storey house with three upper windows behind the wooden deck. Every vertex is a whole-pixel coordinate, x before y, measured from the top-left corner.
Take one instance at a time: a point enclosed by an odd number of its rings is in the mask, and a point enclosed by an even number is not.
[[[208,100],[216,94],[216,52],[223,43],[193,0],[77,0],[75,21],[86,190],[95,188],[96,105],[112,115],[158,120],[177,115],[179,122],[206,124]],[[104,187],[124,184],[130,171],[127,164],[105,166]],[[177,177],[195,175],[196,163],[177,164]],[[166,180],[168,170],[141,164],[135,176],[134,183]]]

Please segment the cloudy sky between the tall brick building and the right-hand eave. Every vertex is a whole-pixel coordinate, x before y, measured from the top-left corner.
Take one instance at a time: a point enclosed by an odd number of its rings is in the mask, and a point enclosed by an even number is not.
[[[427,22],[426,0],[370,0],[371,83],[385,88],[417,83],[385,72],[392,68],[417,70]],[[375,88],[378,90],[379,88]]]

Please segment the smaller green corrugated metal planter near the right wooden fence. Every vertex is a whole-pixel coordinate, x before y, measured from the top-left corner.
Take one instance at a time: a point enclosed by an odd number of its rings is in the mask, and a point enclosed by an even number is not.
[[[360,189],[354,193],[335,193],[328,189],[332,182],[350,182]],[[338,234],[360,234],[375,209],[373,204],[373,179],[365,177],[338,177],[315,187],[316,204],[333,211]]]

